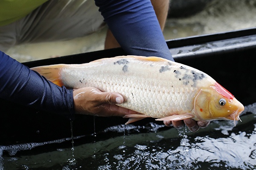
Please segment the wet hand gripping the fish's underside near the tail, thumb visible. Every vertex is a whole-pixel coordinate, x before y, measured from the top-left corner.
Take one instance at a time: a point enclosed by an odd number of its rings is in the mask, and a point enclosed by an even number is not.
[[[125,116],[137,113],[115,105],[124,102],[124,98],[121,94],[102,92],[93,87],[74,89],[73,98],[75,112],[80,114],[96,116]]]

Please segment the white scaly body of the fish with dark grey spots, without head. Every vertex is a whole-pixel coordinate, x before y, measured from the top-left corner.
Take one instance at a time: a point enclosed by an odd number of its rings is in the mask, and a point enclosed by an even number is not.
[[[125,98],[121,107],[154,118],[191,113],[198,91],[212,81],[207,74],[189,66],[136,57],[68,65],[60,75],[67,87],[118,92]]]

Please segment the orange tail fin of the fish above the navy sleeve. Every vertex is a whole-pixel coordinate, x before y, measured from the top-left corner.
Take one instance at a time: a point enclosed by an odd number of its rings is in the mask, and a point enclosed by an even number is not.
[[[38,72],[42,76],[44,76],[49,81],[53,82],[58,86],[63,86],[63,82],[61,81],[60,71],[61,68],[65,67],[64,64],[57,65],[46,65],[31,68],[31,70]]]

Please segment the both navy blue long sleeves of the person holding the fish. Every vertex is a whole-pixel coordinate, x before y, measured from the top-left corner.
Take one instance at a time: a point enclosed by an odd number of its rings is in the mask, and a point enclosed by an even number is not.
[[[95,0],[129,55],[173,60],[150,0]],[[58,87],[0,51],[0,98],[55,113],[74,113],[73,90]]]

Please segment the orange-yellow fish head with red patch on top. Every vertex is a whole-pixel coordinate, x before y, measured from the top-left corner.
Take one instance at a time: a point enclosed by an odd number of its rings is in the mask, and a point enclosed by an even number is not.
[[[240,120],[244,106],[217,82],[202,88],[195,97],[194,111],[199,120]]]

